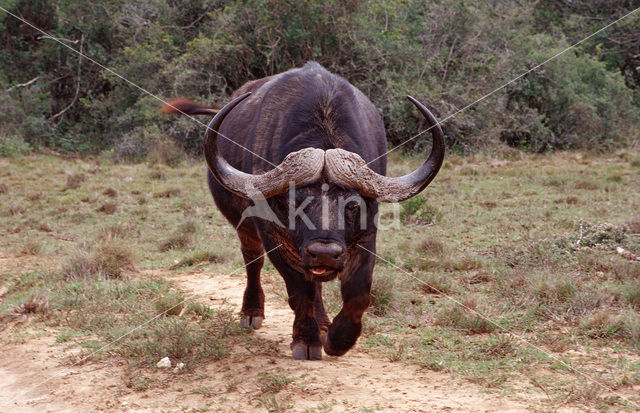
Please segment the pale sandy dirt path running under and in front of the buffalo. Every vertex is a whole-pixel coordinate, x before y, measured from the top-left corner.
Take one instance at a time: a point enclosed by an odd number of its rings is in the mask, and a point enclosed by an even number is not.
[[[166,276],[207,304],[226,303],[235,310],[240,307],[243,276],[211,276],[204,271],[154,275]],[[54,336],[44,332],[44,337],[3,348],[0,412],[527,410],[522,402],[483,392],[449,374],[377,359],[358,346],[340,358],[294,361],[289,350],[293,314],[283,297],[274,293],[275,286],[269,284],[268,278],[265,289],[267,318],[255,333],[257,340],[271,346],[264,354],[234,349],[230,357],[199,367],[194,373],[153,373],[153,388],[134,391],[124,384],[123,366],[104,362],[66,366],[68,349],[65,352],[62,346],[55,345]],[[261,389],[267,375],[292,381],[273,396]],[[22,394],[45,380],[48,381],[43,385]]]

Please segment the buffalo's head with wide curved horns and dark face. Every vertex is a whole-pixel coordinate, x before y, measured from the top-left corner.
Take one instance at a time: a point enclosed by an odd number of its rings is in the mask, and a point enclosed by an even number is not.
[[[378,202],[399,202],[420,193],[435,177],[444,157],[440,125],[420,102],[408,99],[427,119],[433,146],[425,163],[410,174],[387,177],[370,169],[358,154],[344,149],[305,148],[288,154],[262,174],[231,166],[218,151],[218,130],[227,114],[250,93],[228,103],[213,118],[204,154],[216,180],[227,190],[251,200],[286,196],[270,202],[280,222],[288,224],[302,270],[309,281],[328,281],[344,270],[350,247],[372,235]]]

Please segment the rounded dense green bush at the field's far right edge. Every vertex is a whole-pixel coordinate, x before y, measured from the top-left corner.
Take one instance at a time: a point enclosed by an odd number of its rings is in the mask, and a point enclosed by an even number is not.
[[[525,66],[569,45],[548,35],[531,37],[514,60]],[[508,92],[502,139],[536,152],[607,149],[638,130],[638,108],[624,78],[592,56],[569,51],[519,80]]]

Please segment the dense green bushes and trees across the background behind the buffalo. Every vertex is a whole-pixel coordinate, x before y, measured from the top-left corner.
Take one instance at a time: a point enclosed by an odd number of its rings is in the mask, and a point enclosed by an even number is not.
[[[244,82],[317,60],[362,89],[391,143],[640,6],[567,0],[2,0],[2,7],[162,97],[224,103]],[[504,143],[609,150],[639,133],[640,13],[444,124],[462,152]],[[0,155],[51,148],[136,161],[202,126],[0,12]],[[422,150],[427,138],[407,149]]]

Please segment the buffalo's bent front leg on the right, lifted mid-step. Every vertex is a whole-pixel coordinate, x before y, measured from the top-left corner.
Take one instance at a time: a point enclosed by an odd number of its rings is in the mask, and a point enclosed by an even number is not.
[[[330,356],[342,356],[358,340],[362,332],[362,315],[371,303],[371,274],[373,259],[366,259],[367,263],[349,278],[342,280],[342,309],[329,326],[326,334],[322,334],[322,344],[325,353]]]

